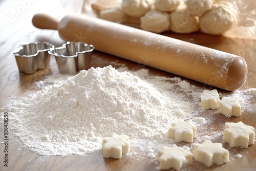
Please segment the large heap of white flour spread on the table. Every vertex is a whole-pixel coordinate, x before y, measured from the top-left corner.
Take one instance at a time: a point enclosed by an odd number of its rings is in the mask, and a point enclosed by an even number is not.
[[[180,77],[151,76],[146,69],[127,71],[91,68],[35,82],[39,90],[6,104],[10,127],[39,155],[86,155],[99,151],[104,137],[126,134],[132,147],[153,158],[163,145],[175,143],[167,137],[172,122],[208,122],[197,117],[203,88]]]

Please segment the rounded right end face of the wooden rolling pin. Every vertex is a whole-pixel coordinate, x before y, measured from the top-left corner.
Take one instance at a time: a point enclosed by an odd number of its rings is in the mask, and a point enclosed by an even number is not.
[[[234,58],[228,69],[226,90],[234,91],[241,88],[247,79],[247,73],[247,64],[244,58],[240,56]]]

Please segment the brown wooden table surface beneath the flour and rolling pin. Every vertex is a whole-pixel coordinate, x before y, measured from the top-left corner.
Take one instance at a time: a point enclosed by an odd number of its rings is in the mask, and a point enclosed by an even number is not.
[[[48,41],[56,47],[61,46],[65,41],[61,40],[57,31],[36,29],[31,24],[31,18],[35,13],[46,12],[55,17],[61,18],[63,15],[71,12],[79,13],[81,11],[82,1],[0,1],[0,109],[4,103],[11,97],[18,96],[21,92],[31,88],[35,81],[43,80],[46,76],[58,73],[58,68],[54,58],[51,58],[50,67],[45,70],[39,70],[34,74],[26,75],[19,73],[15,57],[11,52],[21,44],[35,41]],[[248,77],[240,90],[256,88],[256,40],[228,38],[224,36],[210,36],[200,32],[193,34],[174,34],[171,32],[164,33],[166,36],[193,42],[194,44],[206,46],[209,48],[225,51],[244,57],[248,65]],[[127,67],[138,65],[115,56],[94,52],[93,67],[108,66],[113,61],[118,61]],[[114,65],[115,67],[115,65]],[[146,67],[152,72],[162,74],[168,77],[175,75],[165,73],[156,69]],[[196,83],[199,87],[204,87],[202,83]],[[224,90],[219,90],[225,92]],[[256,98],[250,101],[256,103]],[[248,104],[249,105],[249,104]],[[255,105],[254,105],[255,106]],[[1,130],[3,129],[3,114],[1,110]],[[212,117],[212,113],[205,111],[201,117]],[[215,118],[214,123],[206,125],[204,130],[220,130],[218,125],[224,125],[225,122],[242,121],[247,125],[256,127],[256,109],[245,112],[241,117],[226,118],[219,115]],[[35,153],[22,148],[22,145],[12,138],[13,133],[10,131],[9,142],[9,163],[8,167],[4,166],[4,144],[0,144],[0,170],[157,170],[158,163],[155,159],[136,160],[133,158],[123,157],[121,160],[109,159],[102,157],[101,153],[90,154],[86,156],[39,156]],[[3,131],[1,131],[0,142],[3,141]],[[222,141],[220,139],[220,141]],[[228,147],[224,144],[224,147]],[[193,160],[193,164],[185,167],[185,170],[255,170],[256,169],[256,145],[250,145],[247,149],[235,148],[230,149],[230,155],[241,154],[242,158],[234,158],[224,165],[206,167],[203,164]]]

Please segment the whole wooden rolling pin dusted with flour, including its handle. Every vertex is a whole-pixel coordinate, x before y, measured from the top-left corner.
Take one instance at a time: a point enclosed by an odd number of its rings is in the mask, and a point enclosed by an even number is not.
[[[67,15],[58,22],[47,14],[36,14],[32,23],[58,30],[66,41],[84,41],[101,52],[224,90],[239,89],[247,78],[247,65],[240,56],[107,20]]]

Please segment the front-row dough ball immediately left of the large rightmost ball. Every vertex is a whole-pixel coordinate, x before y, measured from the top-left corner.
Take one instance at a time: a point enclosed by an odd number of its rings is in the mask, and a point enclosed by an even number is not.
[[[176,11],[170,13],[170,30],[173,32],[193,33],[199,28],[199,17],[188,15],[186,6],[179,6]]]

